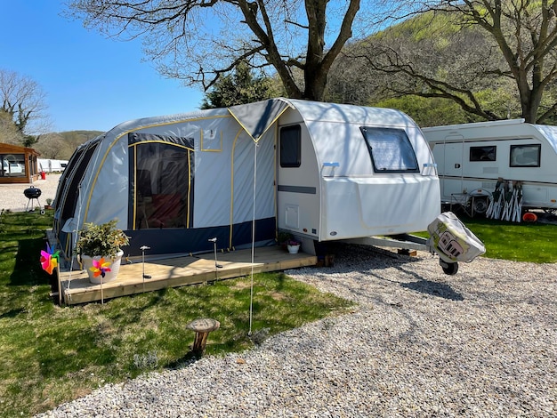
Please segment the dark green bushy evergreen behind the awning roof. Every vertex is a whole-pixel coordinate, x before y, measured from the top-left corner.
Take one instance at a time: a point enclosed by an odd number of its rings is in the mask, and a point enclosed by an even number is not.
[[[254,76],[246,62],[240,62],[233,75],[219,78],[201,104],[201,109],[226,108],[270,99],[280,95],[280,88],[269,76]]]

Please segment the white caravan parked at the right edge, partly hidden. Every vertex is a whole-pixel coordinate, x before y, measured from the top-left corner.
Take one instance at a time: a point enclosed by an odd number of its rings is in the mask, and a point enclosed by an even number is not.
[[[521,182],[522,208],[557,211],[557,126],[513,119],[423,132],[437,163],[442,202],[486,213],[502,179]]]

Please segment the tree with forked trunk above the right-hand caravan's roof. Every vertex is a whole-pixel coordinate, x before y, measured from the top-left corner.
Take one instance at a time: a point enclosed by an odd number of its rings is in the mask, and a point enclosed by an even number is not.
[[[462,17],[462,25],[473,25],[495,41],[505,68],[488,68],[493,74],[516,84],[522,117],[543,122],[555,113],[540,105],[545,89],[557,76],[553,49],[557,46],[557,2],[541,0],[464,0],[445,2],[443,10]]]

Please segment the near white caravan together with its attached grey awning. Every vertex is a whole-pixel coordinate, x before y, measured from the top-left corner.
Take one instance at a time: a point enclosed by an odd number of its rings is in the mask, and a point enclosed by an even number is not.
[[[128,255],[202,253],[425,230],[439,179],[418,126],[392,109],[274,99],[148,117],[79,147],[54,232],[71,254],[84,222],[117,219]],[[254,225],[254,237],[252,237]]]

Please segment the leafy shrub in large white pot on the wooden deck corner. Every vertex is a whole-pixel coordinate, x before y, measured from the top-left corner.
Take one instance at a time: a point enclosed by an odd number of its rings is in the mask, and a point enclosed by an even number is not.
[[[114,280],[120,269],[124,255],[122,246],[129,244],[129,237],[116,225],[116,220],[101,225],[85,223],[79,230],[76,253],[92,283]]]

